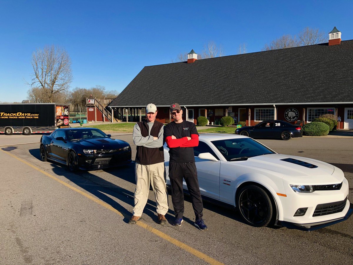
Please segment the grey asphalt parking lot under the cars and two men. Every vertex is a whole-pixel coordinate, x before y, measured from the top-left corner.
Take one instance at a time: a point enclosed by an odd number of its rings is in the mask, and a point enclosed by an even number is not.
[[[131,134],[113,135],[135,152]],[[187,197],[182,226],[171,225],[170,196],[169,223],[158,225],[150,192],[141,225],[129,225],[133,165],[72,174],[39,160],[39,139],[0,135],[0,264],[353,264],[353,217],[311,232],[254,228],[204,202],[209,230],[199,231]],[[353,137],[259,141],[340,167],[353,201]]]

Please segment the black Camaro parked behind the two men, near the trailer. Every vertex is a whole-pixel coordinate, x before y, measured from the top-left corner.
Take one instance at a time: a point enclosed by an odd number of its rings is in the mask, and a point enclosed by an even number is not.
[[[40,141],[42,161],[52,160],[77,169],[103,169],[131,163],[131,147],[96,128],[61,128]]]

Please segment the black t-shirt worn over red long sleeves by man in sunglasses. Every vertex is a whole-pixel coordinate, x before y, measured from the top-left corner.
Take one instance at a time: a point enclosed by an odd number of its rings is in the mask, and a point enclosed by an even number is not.
[[[198,134],[195,124],[183,120],[181,123],[171,122],[164,127],[164,139],[167,136],[174,135],[177,139]],[[195,162],[193,147],[175,147],[169,148],[169,161],[177,163]]]

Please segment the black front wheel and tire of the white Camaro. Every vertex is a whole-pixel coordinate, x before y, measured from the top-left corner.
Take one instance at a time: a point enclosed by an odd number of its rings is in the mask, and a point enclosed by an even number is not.
[[[240,190],[237,206],[245,222],[252,226],[267,226],[274,218],[275,211],[269,195],[256,185],[247,185]]]

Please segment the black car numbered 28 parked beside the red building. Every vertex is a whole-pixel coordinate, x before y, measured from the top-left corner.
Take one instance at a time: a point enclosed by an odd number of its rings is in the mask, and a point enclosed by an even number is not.
[[[237,128],[235,134],[251,138],[278,138],[289,140],[292,137],[302,137],[303,131],[299,125],[293,125],[283,120],[265,120],[255,126]]]

